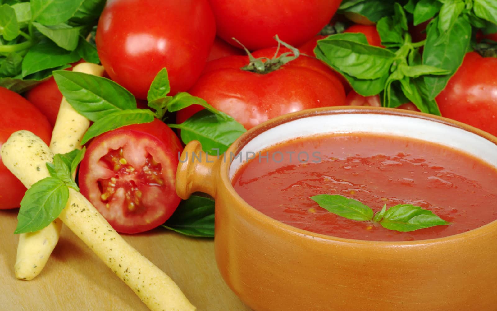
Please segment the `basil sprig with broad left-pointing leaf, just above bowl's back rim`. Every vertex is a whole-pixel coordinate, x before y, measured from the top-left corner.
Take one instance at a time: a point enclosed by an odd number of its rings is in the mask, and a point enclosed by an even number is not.
[[[422,44],[411,41],[402,5],[395,3],[393,7],[394,14],[377,23],[386,48],[370,46],[363,34],[335,34],[318,41],[315,54],[363,96],[382,94],[383,105],[387,107],[411,101],[423,112],[440,115],[421,77],[445,75],[449,71],[421,63]]]

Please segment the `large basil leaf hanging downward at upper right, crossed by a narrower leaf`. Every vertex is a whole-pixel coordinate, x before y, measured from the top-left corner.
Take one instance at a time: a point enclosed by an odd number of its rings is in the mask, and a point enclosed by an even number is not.
[[[471,25],[462,16],[443,35],[439,32],[437,23],[437,18],[435,18],[428,27],[423,50],[423,64],[446,69],[449,74],[423,77],[430,101],[442,92],[450,77],[461,66],[471,40]]]

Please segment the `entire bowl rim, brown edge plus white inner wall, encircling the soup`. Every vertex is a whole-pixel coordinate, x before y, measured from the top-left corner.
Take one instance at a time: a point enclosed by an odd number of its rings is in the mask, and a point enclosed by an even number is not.
[[[269,120],[258,125],[243,135],[238,140],[238,144],[235,143],[229,148],[228,155],[226,155],[229,157],[229,159],[226,159],[226,162],[229,162],[227,163],[228,174],[222,178],[226,178],[225,183],[231,186],[233,177],[247,161],[248,155],[253,157],[254,153],[257,154],[259,151],[264,151],[275,144],[301,137],[354,132],[395,135],[440,144],[477,157],[497,169],[497,138],[477,128],[443,117],[414,111],[394,108],[343,106],[294,112],[282,116],[276,121]],[[238,158],[235,156],[238,156]],[[294,234],[311,235],[325,240],[345,243],[370,244],[374,242],[382,245],[414,246],[436,241],[444,242],[447,239],[464,238],[469,234],[478,234],[477,232],[480,230],[488,226],[495,226],[497,223],[497,220],[494,220],[466,232],[424,240],[369,241],[348,239],[315,233],[280,222],[251,207],[236,193],[233,187],[231,187],[231,190],[248,208],[255,211],[258,215],[257,218],[263,219],[262,221],[277,223]]]

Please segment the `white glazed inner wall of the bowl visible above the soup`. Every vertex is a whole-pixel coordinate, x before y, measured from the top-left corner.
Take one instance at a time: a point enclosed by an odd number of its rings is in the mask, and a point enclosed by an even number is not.
[[[252,138],[230,165],[229,178],[260,151],[301,137],[331,133],[372,133],[414,138],[461,150],[497,168],[497,145],[473,132],[429,119],[389,114],[322,114],[285,122]]]

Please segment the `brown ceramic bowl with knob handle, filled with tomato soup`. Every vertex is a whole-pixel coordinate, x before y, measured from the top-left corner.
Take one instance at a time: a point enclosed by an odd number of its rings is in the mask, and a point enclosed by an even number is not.
[[[481,130],[304,110],[224,155],[191,142],[176,176],[180,197],[215,199],[218,268],[254,310],[495,310],[497,138]]]

